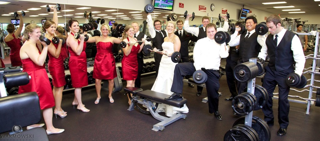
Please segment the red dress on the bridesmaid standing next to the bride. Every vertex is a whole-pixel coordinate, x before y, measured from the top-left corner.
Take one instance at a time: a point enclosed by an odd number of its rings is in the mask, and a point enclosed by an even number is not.
[[[129,41],[129,38],[127,38]],[[138,52],[140,45],[133,46],[128,56],[124,55],[121,61],[123,80],[134,80],[138,76]]]

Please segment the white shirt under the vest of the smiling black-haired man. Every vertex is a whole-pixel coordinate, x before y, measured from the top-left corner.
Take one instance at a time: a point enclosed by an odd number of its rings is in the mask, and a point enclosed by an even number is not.
[[[249,37],[255,32],[256,32],[255,29],[251,30]],[[246,37],[247,35],[248,35],[248,32],[244,37]],[[266,33],[265,35],[258,35],[257,41],[261,46],[263,46],[266,43],[267,36],[268,36],[268,33]],[[240,44],[240,36],[238,36],[238,31],[235,31],[235,33],[231,35],[230,42],[228,44],[229,46],[237,46]]]

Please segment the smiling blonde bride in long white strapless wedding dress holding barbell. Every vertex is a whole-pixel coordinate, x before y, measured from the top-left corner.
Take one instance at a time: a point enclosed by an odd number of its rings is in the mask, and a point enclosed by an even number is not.
[[[162,43],[162,58],[160,61],[158,76],[156,78],[155,83],[152,86],[153,91],[161,92],[167,94],[168,96],[172,95],[171,86],[173,81],[174,68],[178,63],[173,63],[171,54],[175,51],[180,51],[180,39],[177,35],[174,35],[174,31],[176,30],[177,25],[174,21],[168,21],[166,30],[168,32],[168,36],[164,38],[164,43]],[[154,49],[155,52],[156,49]],[[157,52],[159,53],[159,52]],[[169,106],[166,104],[159,104],[156,109],[156,112],[165,112],[165,115],[168,117],[172,117],[177,113],[188,113],[189,109],[186,104],[182,108]]]

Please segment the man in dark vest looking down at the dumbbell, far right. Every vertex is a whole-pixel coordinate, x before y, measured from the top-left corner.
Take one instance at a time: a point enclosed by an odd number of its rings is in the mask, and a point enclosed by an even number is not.
[[[272,97],[273,91],[276,85],[278,85],[278,122],[280,129],[277,135],[283,136],[287,133],[289,125],[288,115],[290,108],[288,101],[290,87],[286,83],[286,77],[293,72],[301,76],[306,60],[299,37],[295,33],[281,27],[281,17],[279,15],[270,15],[267,18],[267,27],[270,34],[258,55],[261,59],[266,59],[267,55],[270,58],[262,84],[268,91],[269,99],[267,104],[262,107],[262,111],[267,124],[269,126],[273,125]]]

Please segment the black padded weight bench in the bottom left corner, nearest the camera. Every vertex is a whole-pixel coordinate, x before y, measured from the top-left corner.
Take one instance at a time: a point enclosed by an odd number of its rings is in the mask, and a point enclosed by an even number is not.
[[[47,132],[42,127],[22,130],[22,127],[41,121],[39,97],[36,92],[0,98],[0,109],[0,133],[4,133],[0,135],[0,140],[49,140]]]

